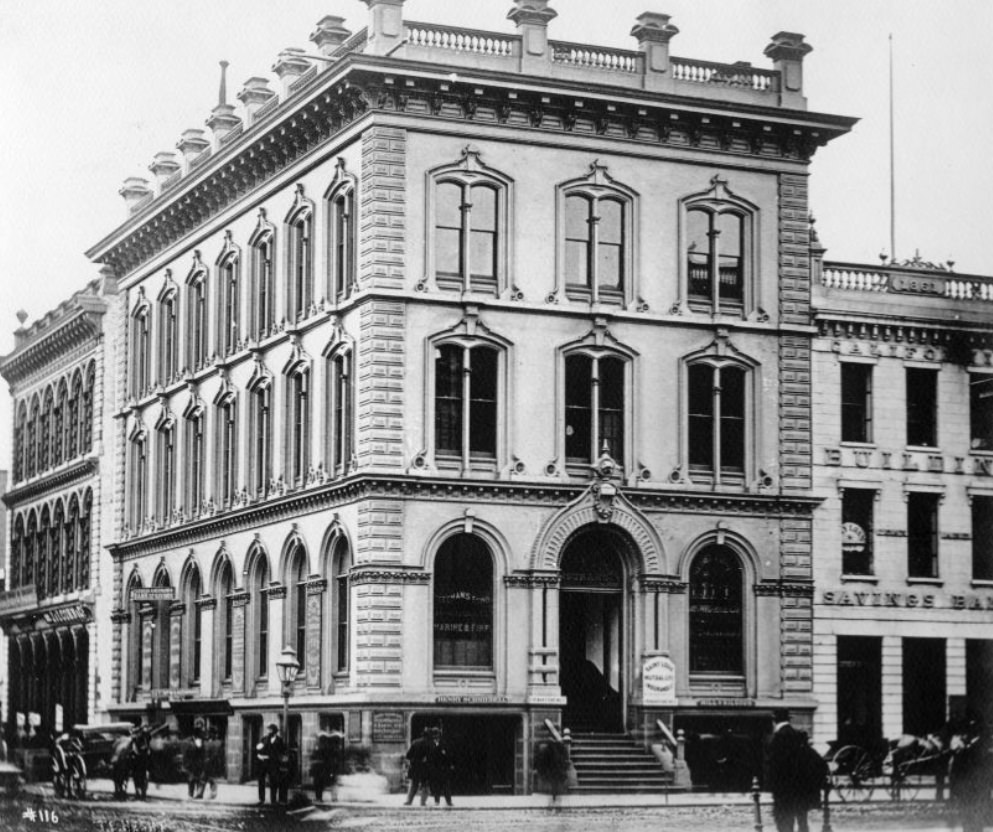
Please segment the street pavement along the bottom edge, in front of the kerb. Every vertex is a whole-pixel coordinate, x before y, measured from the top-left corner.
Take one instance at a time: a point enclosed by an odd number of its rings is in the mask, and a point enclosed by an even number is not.
[[[34,813],[32,815],[32,812]],[[47,813],[47,814],[46,814]],[[774,832],[771,811],[763,807],[764,832]],[[813,832],[822,828],[812,812]],[[933,803],[840,806],[832,812],[834,832],[942,830],[945,807]],[[72,803],[28,797],[0,803],[4,832],[317,832],[367,829],[374,832],[755,832],[748,806],[629,807],[614,809],[454,809],[374,806],[322,808],[288,815],[282,810],[218,804],[149,800],[120,803],[90,799]]]

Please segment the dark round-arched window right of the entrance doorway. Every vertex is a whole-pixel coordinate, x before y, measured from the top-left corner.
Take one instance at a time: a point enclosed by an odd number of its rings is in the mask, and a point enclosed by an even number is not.
[[[744,672],[744,575],[726,546],[708,546],[690,565],[690,673]]]

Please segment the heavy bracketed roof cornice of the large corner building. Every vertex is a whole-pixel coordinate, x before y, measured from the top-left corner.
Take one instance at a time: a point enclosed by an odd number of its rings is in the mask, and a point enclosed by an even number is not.
[[[806,162],[854,119],[505,72],[352,54],[315,76],[271,116],[204,157],[87,256],[128,275],[211,217],[304,159],[369,112],[475,120],[513,128],[666,144]],[[480,93],[480,84],[485,84]],[[511,95],[513,92],[513,95]]]

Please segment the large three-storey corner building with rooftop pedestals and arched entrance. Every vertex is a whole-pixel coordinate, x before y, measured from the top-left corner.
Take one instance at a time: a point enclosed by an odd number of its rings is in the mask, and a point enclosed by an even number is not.
[[[365,2],[240,114],[222,81],[88,252],[126,321],[108,710],[252,777],[288,645],[304,771],[337,727],[395,776],[436,723],[465,791],[529,791],[546,720],[754,757],[815,707],[807,175],[852,120],[792,33],[758,69],[665,15],[627,51],[547,0]]]

